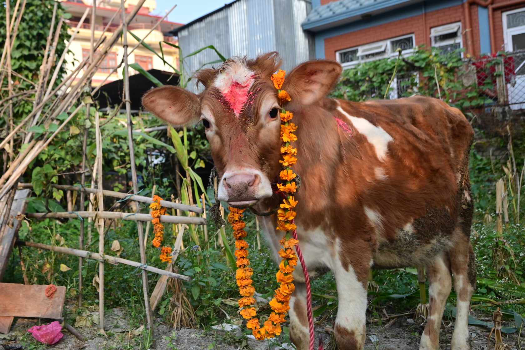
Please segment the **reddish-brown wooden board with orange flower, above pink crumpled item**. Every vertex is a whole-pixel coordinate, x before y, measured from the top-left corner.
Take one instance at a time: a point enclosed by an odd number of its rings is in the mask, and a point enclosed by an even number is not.
[[[0,283],[0,316],[62,319],[66,287],[57,285],[53,298],[46,296],[47,285]]]

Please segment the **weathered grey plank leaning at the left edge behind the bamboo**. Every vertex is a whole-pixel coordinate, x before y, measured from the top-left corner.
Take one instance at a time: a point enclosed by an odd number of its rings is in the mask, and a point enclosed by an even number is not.
[[[30,189],[16,191],[13,205],[11,206],[11,211],[7,219],[7,226],[4,226],[4,230],[0,232],[0,281],[2,281],[7,265],[9,264],[9,257],[13,251],[13,245],[18,234],[20,221],[23,217],[21,214],[24,214],[26,210],[26,200],[29,193]],[[0,204],[0,208],[4,205],[5,202]],[[0,227],[2,227],[2,221],[3,217],[0,216]]]

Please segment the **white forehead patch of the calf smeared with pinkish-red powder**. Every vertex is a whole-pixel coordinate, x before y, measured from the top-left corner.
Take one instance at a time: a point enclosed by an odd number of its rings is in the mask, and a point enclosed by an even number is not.
[[[223,94],[223,103],[239,116],[247,103],[250,103],[251,86],[255,80],[254,71],[241,60],[225,64],[222,72],[215,78],[214,86]]]

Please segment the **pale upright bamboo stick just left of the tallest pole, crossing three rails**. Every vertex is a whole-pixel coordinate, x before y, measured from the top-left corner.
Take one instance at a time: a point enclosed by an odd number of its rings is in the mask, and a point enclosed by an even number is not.
[[[93,25],[93,24],[91,24]],[[104,219],[100,216],[104,212],[104,196],[102,194],[102,135],[100,134],[99,113],[95,111],[95,132],[98,155],[98,232],[99,232],[99,254],[104,256]],[[99,317],[100,328],[104,329],[104,260],[99,261]]]

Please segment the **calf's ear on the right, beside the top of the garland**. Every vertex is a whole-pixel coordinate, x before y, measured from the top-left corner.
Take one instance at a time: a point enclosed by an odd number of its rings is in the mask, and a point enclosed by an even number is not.
[[[304,62],[293,69],[283,84],[290,104],[309,105],[319,101],[335,87],[342,67],[327,60]]]

